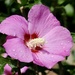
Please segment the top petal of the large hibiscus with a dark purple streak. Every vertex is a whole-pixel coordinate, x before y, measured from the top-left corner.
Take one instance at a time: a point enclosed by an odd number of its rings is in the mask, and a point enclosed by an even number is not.
[[[43,36],[52,28],[59,26],[59,21],[53,16],[49,8],[42,5],[34,5],[28,13],[28,30],[30,34],[37,33]]]

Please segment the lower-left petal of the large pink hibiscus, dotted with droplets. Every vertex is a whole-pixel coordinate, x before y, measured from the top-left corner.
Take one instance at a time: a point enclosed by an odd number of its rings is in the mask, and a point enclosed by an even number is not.
[[[24,41],[19,38],[8,39],[3,45],[8,55],[21,62],[31,62],[33,60],[31,51],[25,46]]]

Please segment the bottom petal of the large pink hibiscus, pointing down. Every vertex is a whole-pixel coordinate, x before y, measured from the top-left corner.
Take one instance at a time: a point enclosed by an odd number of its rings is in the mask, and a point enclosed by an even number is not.
[[[33,54],[34,63],[39,66],[44,66],[46,68],[52,68],[57,62],[64,60],[64,57],[60,55],[53,55],[49,53],[43,53],[42,51]],[[37,61],[36,61],[37,60]],[[41,64],[43,65],[41,65]]]

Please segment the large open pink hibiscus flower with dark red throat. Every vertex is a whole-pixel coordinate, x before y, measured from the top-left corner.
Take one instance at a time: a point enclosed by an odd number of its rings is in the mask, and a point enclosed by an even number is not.
[[[72,47],[70,32],[42,4],[30,9],[28,21],[19,15],[6,18],[0,32],[8,35],[3,46],[9,56],[47,68],[64,60]]]

